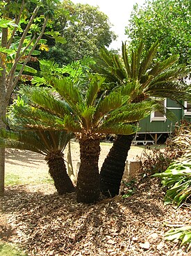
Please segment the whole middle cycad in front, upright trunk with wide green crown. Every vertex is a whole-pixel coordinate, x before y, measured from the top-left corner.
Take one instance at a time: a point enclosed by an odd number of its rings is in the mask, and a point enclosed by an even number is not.
[[[90,76],[86,92],[80,91],[67,77],[52,78],[51,84],[65,102],[56,98],[50,89],[24,88],[22,93],[30,98],[31,103],[15,107],[15,121],[19,124],[22,119],[22,125],[26,128],[75,133],[81,152],[77,201],[96,202],[100,194],[98,160],[101,136],[104,133],[135,133],[136,127],[129,123],[149,115],[156,104],[152,100],[131,103],[132,89],[137,86],[135,83],[107,94],[103,78],[96,75]]]

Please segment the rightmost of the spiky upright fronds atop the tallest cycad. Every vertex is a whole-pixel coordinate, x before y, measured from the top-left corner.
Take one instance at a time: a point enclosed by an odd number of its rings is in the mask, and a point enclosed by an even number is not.
[[[147,69],[150,67],[151,62],[153,61],[153,57],[155,57],[156,52],[158,50],[159,43],[156,41],[156,43],[153,43],[151,45],[149,51],[147,52],[146,56],[142,60],[142,63],[140,64],[140,70],[139,70],[139,76],[138,79],[140,80],[142,75],[147,71]]]

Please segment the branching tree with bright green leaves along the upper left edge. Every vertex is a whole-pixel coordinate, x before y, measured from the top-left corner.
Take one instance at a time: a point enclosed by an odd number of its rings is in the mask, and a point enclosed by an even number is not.
[[[0,3],[0,128],[5,128],[2,116],[6,114],[10,95],[31,59],[35,47],[40,43],[57,2],[57,0],[35,0],[33,1],[35,8],[31,13],[28,1],[1,1]],[[38,17],[38,11],[42,6],[44,15]],[[24,29],[22,24],[25,24]],[[4,193],[4,163],[5,150],[0,149],[0,195]]]

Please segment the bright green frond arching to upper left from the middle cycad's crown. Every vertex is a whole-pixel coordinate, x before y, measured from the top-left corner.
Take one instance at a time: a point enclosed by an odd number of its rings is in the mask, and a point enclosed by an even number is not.
[[[71,109],[63,100],[53,96],[51,91],[44,87],[24,87],[21,93],[28,96],[33,103],[39,105],[51,114],[63,117],[69,114]]]

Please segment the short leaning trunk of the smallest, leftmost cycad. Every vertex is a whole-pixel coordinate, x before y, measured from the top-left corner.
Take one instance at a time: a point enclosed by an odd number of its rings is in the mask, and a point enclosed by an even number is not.
[[[47,156],[45,160],[47,160],[47,164],[49,165],[49,174],[54,181],[54,186],[56,187],[58,194],[64,195],[65,193],[74,192],[75,188],[67,174],[63,155]]]

